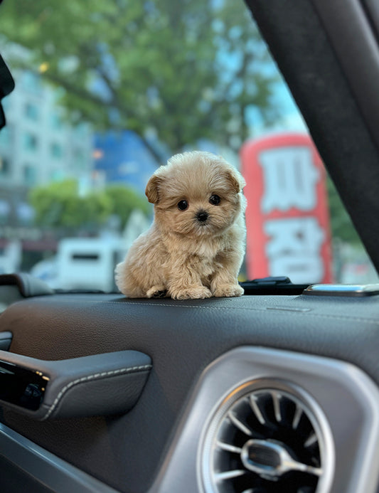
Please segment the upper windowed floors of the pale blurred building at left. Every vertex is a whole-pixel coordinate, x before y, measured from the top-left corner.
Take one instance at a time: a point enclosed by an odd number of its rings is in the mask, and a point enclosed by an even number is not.
[[[92,130],[72,127],[58,105],[59,90],[28,71],[14,74],[16,88],[4,99],[0,132],[1,188],[82,179],[92,171]]]

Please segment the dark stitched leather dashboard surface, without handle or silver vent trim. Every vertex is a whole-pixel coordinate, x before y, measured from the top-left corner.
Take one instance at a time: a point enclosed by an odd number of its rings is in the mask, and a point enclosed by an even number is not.
[[[358,366],[378,385],[378,314],[378,296],[24,299],[0,317],[1,331],[13,333],[11,352],[53,360],[134,350],[150,356],[152,369],[137,405],[125,415],[38,423],[4,409],[2,421],[119,491],[146,492],[191,389],[218,356],[239,346],[327,356]]]

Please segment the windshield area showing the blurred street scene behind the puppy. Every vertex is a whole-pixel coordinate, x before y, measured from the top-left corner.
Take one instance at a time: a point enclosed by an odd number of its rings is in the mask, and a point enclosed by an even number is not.
[[[172,154],[221,154],[245,176],[240,280],[376,282],[243,2],[6,1],[16,80],[0,132],[0,272],[114,290]]]

